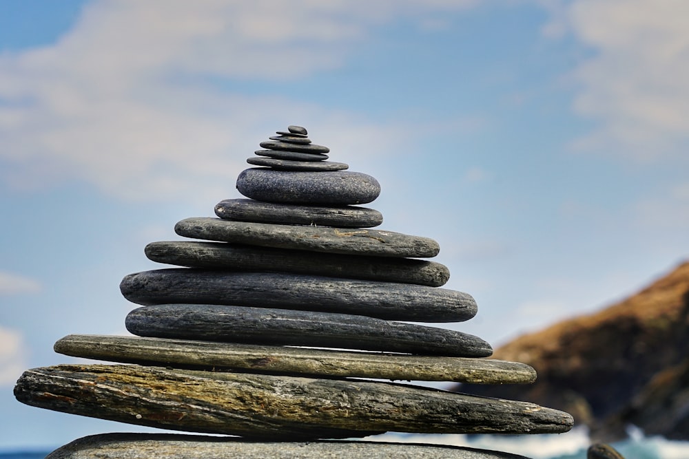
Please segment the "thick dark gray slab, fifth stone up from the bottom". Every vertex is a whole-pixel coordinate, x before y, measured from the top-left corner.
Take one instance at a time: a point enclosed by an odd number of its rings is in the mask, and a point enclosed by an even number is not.
[[[195,268],[124,277],[122,295],[141,305],[255,306],[356,314],[417,322],[461,322],[475,316],[471,295],[446,288],[286,273],[232,273]]]

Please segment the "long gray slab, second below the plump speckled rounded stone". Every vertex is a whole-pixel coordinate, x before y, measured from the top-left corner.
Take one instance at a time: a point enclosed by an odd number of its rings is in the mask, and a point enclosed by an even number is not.
[[[178,222],[174,231],[183,237],[209,241],[373,257],[429,258],[440,251],[438,242],[429,237],[359,228],[343,230],[194,217]]]

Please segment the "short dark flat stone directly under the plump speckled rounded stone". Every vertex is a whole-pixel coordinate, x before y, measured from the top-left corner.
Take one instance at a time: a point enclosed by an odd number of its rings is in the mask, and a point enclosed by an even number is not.
[[[300,206],[248,199],[220,201],[215,213],[225,220],[290,225],[370,228],[383,222],[382,213],[360,206]]]

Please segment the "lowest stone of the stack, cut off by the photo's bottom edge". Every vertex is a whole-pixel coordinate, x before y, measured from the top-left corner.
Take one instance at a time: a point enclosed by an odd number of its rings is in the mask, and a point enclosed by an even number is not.
[[[100,434],[79,438],[45,459],[528,459],[449,445],[364,441],[270,442],[184,434]]]

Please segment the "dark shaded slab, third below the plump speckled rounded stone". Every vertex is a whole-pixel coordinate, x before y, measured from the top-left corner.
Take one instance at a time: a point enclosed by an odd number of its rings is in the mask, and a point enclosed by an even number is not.
[[[192,268],[311,274],[430,287],[440,287],[450,277],[449,269],[434,261],[335,255],[227,242],[152,242],[144,251],[152,261]]]

